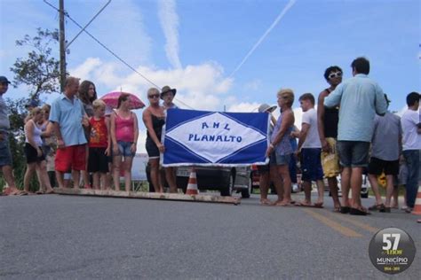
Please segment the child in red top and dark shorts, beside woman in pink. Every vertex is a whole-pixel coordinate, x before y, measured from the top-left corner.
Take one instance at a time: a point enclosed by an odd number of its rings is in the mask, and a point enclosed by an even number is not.
[[[105,117],[106,104],[100,99],[92,103],[93,117],[89,119],[88,172],[93,174],[93,188],[107,190],[108,159],[110,153],[109,121]]]

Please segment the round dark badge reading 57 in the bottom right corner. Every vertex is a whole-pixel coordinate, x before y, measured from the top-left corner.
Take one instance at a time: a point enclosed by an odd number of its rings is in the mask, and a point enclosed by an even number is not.
[[[397,274],[409,268],[415,254],[414,240],[402,229],[381,229],[369,242],[371,263],[387,274]]]

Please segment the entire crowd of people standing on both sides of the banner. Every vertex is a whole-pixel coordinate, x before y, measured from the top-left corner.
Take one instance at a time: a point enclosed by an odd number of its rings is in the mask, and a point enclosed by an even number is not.
[[[421,124],[418,111],[420,95],[407,96],[408,110],[401,119],[387,111],[390,100],[371,80],[369,60],[355,58],[351,64],[353,77],[342,82],[343,71],[330,66],[324,73],[329,83],[317,100],[311,93],[298,98],[303,110],[301,130],[294,127],[294,92],[281,89],[277,104],[281,114],[271,117],[270,144],[266,157],[270,163],[259,166],[260,202],[263,205],[290,206],[291,174],[301,164],[301,180],[305,191],[301,206],[323,206],[323,178],[327,179],[333,198],[334,211],[342,214],[369,214],[361,205],[361,178],[365,170],[376,195],[376,204],[369,210],[390,212],[391,198],[396,197],[393,182],[405,162],[406,203],[410,210],[417,196]],[[12,156],[8,144],[10,122],[3,99],[9,81],[0,77],[0,166],[9,188],[4,194],[28,193],[29,180],[34,173],[42,187],[52,192],[52,170],[60,188],[67,187],[66,178],[72,172],[74,188],[79,188],[82,173],[85,188],[107,190],[114,182],[120,191],[120,177],[124,176],[125,191],[131,189],[131,165],[139,137],[138,119],[131,112],[131,96],[121,94],[116,108],[110,108],[97,98],[95,85],[90,81],[68,77],[64,93],[51,106],[32,107],[25,122],[25,154],[27,172],[24,191],[18,191],[12,175]],[[167,110],[177,108],[172,102],[177,90],[169,86],[162,90],[147,90],[149,105],[142,119],[147,128],[146,149],[149,157],[151,183],[155,191],[163,192],[168,183],[171,192],[177,192],[173,167],[160,168],[160,154],[165,152],[162,131]],[[163,99],[161,104],[160,99]],[[261,105],[259,112],[273,113],[276,106]],[[298,138],[298,145],[295,140]],[[292,164],[291,164],[292,162]],[[403,164],[401,164],[403,166]],[[164,173],[164,175],[163,175]],[[386,198],[383,203],[378,191],[377,176],[385,174]],[[342,200],[338,198],[337,176],[341,175]],[[66,177],[67,175],[67,177]],[[297,178],[292,176],[293,181]],[[50,180],[49,180],[50,179]],[[402,179],[402,180],[403,180]],[[278,199],[267,198],[268,186],[274,183]],[[318,198],[312,204],[312,182],[317,186]],[[352,190],[352,198],[349,191]]]

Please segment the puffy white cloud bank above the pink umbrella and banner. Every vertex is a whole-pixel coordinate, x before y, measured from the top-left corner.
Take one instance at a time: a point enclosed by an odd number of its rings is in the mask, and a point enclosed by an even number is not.
[[[99,58],[87,58],[70,73],[83,79],[89,77],[95,83],[99,96],[115,89],[123,89],[138,94],[146,103],[146,92],[152,85],[139,74],[121,74],[121,67],[115,63],[103,62]],[[232,98],[224,100],[232,87],[233,80],[226,78],[223,68],[216,63],[207,62],[169,70],[139,66],[137,70],[159,85],[159,88],[163,85],[176,88],[178,91],[174,102],[181,108],[222,111],[223,102],[226,100],[234,102]]]

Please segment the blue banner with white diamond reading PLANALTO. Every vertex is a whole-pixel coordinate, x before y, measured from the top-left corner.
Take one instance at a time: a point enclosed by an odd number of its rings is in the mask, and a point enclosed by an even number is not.
[[[266,162],[267,113],[169,110],[163,166],[238,166]]]

